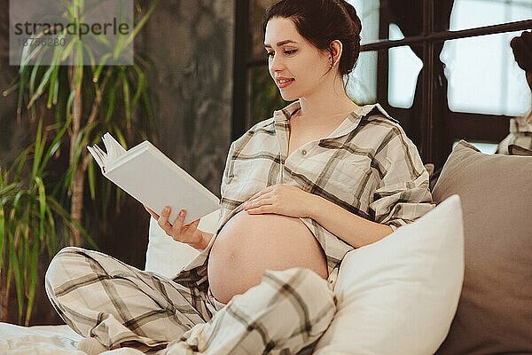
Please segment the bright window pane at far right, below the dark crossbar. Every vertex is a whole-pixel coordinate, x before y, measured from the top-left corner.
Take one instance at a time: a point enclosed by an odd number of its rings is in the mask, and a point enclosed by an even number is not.
[[[530,89],[509,44],[519,34],[461,38],[444,44],[440,58],[449,82],[451,111],[509,116],[528,111]]]

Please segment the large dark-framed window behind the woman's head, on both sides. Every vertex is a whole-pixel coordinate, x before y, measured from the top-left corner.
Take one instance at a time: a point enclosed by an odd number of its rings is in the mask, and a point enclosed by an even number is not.
[[[256,26],[272,3],[236,2],[233,138],[286,105],[268,75]],[[424,162],[441,167],[461,138],[497,144],[509,118],[529,109],[530,90],[508,43],[532,28],[532,0],[349,3],[363,22],[363,52],[348,94],[358,104],[384,106]]]

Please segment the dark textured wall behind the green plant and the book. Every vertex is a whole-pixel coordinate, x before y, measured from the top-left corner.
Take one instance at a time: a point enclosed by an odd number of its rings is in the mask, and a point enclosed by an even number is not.
[[[9,66],[8,3],[0,0],[0,92],[17,75],[17,67]],[[135,51],[144,52],[153,63],[148,85],[157,127],[155,144],[217,195],[231,143],[233,28],[234,0],[164,0],[135,43]],[[25,123],[16,120],[16,106],[16,93],[0,96],[4,165],[32,141]],[[106,233],[93,237],[101,251],[142,269],[148,217],[128,196]],[[11,321],[16,321],[13,301]],[[43,288],[37,289],[34,313],[32,324],[60,321]]]

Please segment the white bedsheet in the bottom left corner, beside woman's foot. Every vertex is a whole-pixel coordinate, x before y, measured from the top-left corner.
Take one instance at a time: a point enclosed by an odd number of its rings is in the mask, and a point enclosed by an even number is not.
[[[0,323],[2,355],[85,355],[76,350],[80,335],[65,326],[19,327]],[[144,355],[133,349],[106,351],[106,355]]]

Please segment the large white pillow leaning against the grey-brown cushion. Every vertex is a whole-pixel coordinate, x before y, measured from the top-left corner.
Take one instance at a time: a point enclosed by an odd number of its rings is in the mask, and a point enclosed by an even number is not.
[[[464,279],[458,195],[341,264],[338,311],[315,354],[428,355],[449,332]]]

